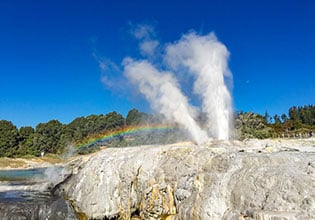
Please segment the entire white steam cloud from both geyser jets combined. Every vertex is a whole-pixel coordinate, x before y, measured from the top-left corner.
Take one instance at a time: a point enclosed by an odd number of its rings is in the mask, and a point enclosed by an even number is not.
[[[133,35],[139,40],[141,55],[147,58],[125,58],[123,73],[138,87],[151,108],[182,125],[198,144],[209,140],[209,136],[229,139],[232,98],[225,79],[232,80],[232,74],[227,64],[229,52],[216,36],[190,32],[177,42],[167,44],[164,52],[157,53],[161,45],[153,39],[151,26],[138,26]],[[153,63],[152,60],[158,60],[160,54],[163,54],[162,61]],[[207,116],[207,130],[198,125],[198,109],[191,106],[188,97],[182,93],[179,76],[194,79],[193,93],[201,98],[201,111]]]

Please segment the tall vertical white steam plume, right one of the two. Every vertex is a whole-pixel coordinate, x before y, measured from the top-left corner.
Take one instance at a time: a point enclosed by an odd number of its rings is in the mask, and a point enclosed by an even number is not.
[[[165,61],[172,69],[185,67],[194,75],[194,93],[202,97],[209,132],[217,139],[230,136],[232,100],[224,82],[224,77],[232,77],[228,57],[228,50],[213,33],[190,33],[166,48]]]

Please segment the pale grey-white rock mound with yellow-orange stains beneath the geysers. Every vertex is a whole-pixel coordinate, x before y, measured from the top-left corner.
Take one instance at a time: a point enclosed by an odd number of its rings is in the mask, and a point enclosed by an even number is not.
[[[89,219],[313,219],[314,152],[314,141],[112,148],[60,191]]]

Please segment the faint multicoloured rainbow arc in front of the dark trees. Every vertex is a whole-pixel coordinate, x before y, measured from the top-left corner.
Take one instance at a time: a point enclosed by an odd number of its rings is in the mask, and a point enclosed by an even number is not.
[[[84,148],[84,147],[89,147],[93,144],[110,141],[112,139],[119,138],[119,137],[136,135],[136,134],[146,133],[146,132],[156,132],[156,131],[165,132],[165,131],[171,131],[173,129],[175,129],[174,125],[167,125],[167,124],[125,126],[117,130],[105,131],[100,134],[90,136],[87,139],[80,142],[80,144],[78,144],[77,147]]]

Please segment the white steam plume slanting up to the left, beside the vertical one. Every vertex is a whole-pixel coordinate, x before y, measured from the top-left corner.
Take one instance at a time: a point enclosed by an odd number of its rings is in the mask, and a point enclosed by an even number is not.
[[[153,110],[166,119],[175,121],[187,129],[198,144],[207,141],[207,133],[195,122],[195,114],[181,93],[177,81],[170,72],[160,72],[147,61],[124,60],[124,73],[150,102]]]

